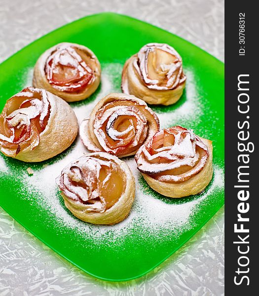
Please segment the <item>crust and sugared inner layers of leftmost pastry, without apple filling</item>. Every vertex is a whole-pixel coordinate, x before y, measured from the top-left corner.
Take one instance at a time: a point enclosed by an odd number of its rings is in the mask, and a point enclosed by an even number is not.
[[[41,97],[41,99],[43,96],[45,100],[44,104],[49,105],[49,117],[44,130],[41,133],[37,134],[37,137],[33,135],[34,139],[30,139],[32,135],[29,134],[29,140],[24,139],[24,141],[20,142],[19,146],[22,149],[17,154],[17,149],[15,148],[6,148],[4,146],[1,146],[0,148],[1,152],[6,156],[10,156],[26,162],[43,161],[63,152],[65,149],[71,146],[78,133],[78,123],[74,111],[68,103],[66,103],[61,98],[53,95],[52,93],[47,92],[44,89],[29,87],[27,89],[24,89],[17,95],[13,96],[11,99],[14,98],[17,101],[20,100],[19,98],[21,98],[22,101],[25,102],[26,100],[34,99],[34,96],[36,98]],[[6,107],[4,107],[2,114],[10,112],[6,109],[7,103],[5,106]],[[30,108],[32,109],[32,107]],[[22,109],[21,111],[14,110],[15,112],[17,112],[17,122],[14,123],[14,125],[19,126],[21,122],[27,120],[28,128],[29,130],[32,130],[32,119],[28,120],[28,118],[33,117],[33,115],[31,114],[31,111],[27,110],[28,108]],[[47,114],[46,110],[44,112]],[[25,117],[26,119],[24,119],[24,114],[26,113],[28,113],[28,115]],[[39,116],[41,116],[41,112],[39,112]],[[27,143],[25,148],[23,149],[25,142]],[[17,146],[17,144],[15,145]]]

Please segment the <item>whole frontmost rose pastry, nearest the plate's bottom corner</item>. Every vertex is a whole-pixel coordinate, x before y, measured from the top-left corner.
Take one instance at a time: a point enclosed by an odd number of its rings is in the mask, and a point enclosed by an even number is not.
[[[89,153],[56,179],[66,207],[82,221],[115,224],[130,212],[135,180],[127,164],[105,152]]]

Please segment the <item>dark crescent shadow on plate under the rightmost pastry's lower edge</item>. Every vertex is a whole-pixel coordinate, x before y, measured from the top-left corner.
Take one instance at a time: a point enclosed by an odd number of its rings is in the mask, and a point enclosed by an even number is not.
[[[188,202],[191,202],[194,200],[198,200],[200,197],[203,196],[203,194],[208,192],[208,190],[212,186],[213,182],[214,182],[214,173],[213,173],[213,176],[212,176],[212,179],[211,179],[209,185],[207,185],[207,187],[204,190],[202,190],[200,193],[195,194],[195,195],[181,197],[181,198],[172,198],[172,197],[167,197],[167,196],[164,196],[164,195],[156,192],[148,185],[147,181],[143,178],[143,176],[139,177],[140,189],[142,191],[144,191],[145,194],[152,196],[156,199],[159,199],[160,201],[162,201],[166,204],[170,204],[170,205],[174,205],[174,204],[180,205],[180,204],[185,204],[185,203],[188,203]]]

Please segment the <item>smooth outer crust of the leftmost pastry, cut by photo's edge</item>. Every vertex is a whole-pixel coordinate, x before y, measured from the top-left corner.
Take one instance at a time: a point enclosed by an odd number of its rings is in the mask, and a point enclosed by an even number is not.
[[[45,92],[50,103],[48,122],[43,132],[39,134],[39,143],[37,147],[32,148],[29,146],[25,148],[16,156],[12,156],[12,150],[1,147],[1,152],[6,156],[11,156],[26,162],[43,161],[70,147],[77,136],[77,118],[69,104],[50,92],[41,89],[37,91]]]

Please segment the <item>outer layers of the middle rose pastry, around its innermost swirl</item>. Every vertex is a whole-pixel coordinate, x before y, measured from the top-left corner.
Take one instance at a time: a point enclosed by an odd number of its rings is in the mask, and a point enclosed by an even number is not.
[[[117,105],[102,111],[104,108],[108,108],[109,104]],[[112,112],[109,113],[110,111]],[[115,118],[113,118],[114,123],[125,115],[128,115],[130,118],[137,118],[139,122],[137,127],[134,127],[134,137],[130,134],[132,140],[129,144],[116,145],[112,148],[105,141],[108,138],[108,134],[112,137],[117,130],[113,128],[112,123],[108,128],[109,120],[113,116]],[[101,124],[102,120],[105,120],[103,125]],[[133,127],[133,124],[130,127]],[[148,142],[158,130],[158,117],[148,108],[143,100],[127,94],[111,93],[97,103],[89,119],[83,120],[80,125],[80,137],[86,148],[91,151],[106,151],[118,157],[124,157],[134,155],[138,148]],[[116,142],[118,141],[116,140]]]

